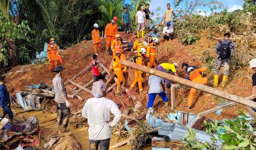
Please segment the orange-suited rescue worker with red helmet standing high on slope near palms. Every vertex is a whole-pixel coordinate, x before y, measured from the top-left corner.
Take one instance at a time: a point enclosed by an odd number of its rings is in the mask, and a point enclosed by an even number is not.
[[[117,26],[115,25],[115,20],[112,19],[111,23],[107,24],[105,28],[105,39],[106,39],[106,50],[109,49],[111,42],[115,39],[117,34]]]

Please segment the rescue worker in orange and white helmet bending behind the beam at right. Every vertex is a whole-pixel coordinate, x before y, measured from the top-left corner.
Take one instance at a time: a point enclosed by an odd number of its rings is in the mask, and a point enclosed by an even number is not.
[[[200,74],[200,72],[205,72],[206,70],[207,69],[205,67],[201,69],[195,69],[195,70],[193,67],[188,67],[187,72],[189,73],[189,79],[193,82],[207,85],[208,79],[206,77],[203,78],[202,75]],[[196,92],[197,92],[197,89],[191,88],[189,92],[189,100],[187,103],[188,109],[192,108],[192,102]]]

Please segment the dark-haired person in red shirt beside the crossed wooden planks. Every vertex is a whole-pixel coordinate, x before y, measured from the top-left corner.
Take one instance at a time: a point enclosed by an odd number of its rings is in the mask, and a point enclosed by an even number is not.
[[[99,81],[100,79],[104,79],[105,76],[102,75],[100,72],[99,72],[99,64],[100,64],[100,59],[97,59],[97,55],[96,54],[93,54],[92,55],[92,76],[93,76],[93,79],[94,79],[94,82],[96,81]]]

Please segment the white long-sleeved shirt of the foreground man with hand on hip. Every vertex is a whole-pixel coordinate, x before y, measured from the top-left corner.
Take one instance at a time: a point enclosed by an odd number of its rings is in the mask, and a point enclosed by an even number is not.
[[[112,122],[109,122],[110,112],[114,114]],[[105,140],[111,137],[111,127],[120,121],[122,114],[117,104],[103,97],[88,99],[84,104],[82,116],[88,119],[89,139]]]

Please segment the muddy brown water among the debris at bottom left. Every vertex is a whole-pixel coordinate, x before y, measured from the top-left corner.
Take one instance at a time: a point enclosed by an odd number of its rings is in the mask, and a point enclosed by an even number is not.
[[[16,110],[16,112],[23,111],[23,109],[20,109],[20,108],[15,108],[15,110]],[[0,110],[0,112],[2,112],[2,109]],[[46,117],[45,117],[45,113],[42,113],[42,111],[31,111],[31,112],[20,113],[20,114],[14,116],[14,119],[23,121],[24,118],[28,119],[31,116],[36,116],[36,118],[39,120],[39,126],[45,127],[45,128],[52,128],[54,131],[58,131],[58,124],[57,124],[56,119],[53,120],[53,121],[40,123],[40,122],[44,122],[46,120],[56,118],[57,113],[47,112]],[[69,123],[68,128],[70,128],[70,131],[72,132],[74,137],[76,137],[76,140],[78,140],[80,142],[80,144],[82,145],[83,150],[88,150],[89,149],[89,133],[88,133],[88,128],[89,127],[74,128]],[[113,145],[115,145],[119,142],[122,142],[124,140],[126,140],[126,139],[120,138],[119,141],[117,142],[117,136],[112,135],[111,140],[110,140],[110,146],[113,146]],[[40,147],[43,147],[44,144],[45,144],[45,142],[43,140],[40,140]],[[124,145],[124,146],[120,146],[120,147],[114,148],[114,149],[129,150],[131,148],[130,148],[130,146]],[[151,150],[151,146],[143,147],[143,149],[144,150]]]

